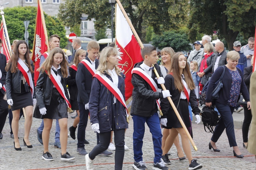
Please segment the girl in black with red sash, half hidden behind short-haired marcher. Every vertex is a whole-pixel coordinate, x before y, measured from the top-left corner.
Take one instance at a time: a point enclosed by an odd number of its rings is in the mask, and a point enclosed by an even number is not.
[[[69,131],[70,131],[70,137],[72,139],[75,139],[75,130],[77,128],[77,124],[79,123],[79,107],[77,103],[77,93],[78,89],[76,86],[76,72],[77,72],[77,66],[78,64],[84,60],[86,57],[86,51],[83,49],[79,49],[75,52],[75,57],[74,57],[74,63],[69,67],[69,77],[67,78],[67,85],[69,87],[69,95],[70,95],[70,104],[71,104],[71,109],[73,111],[76,111],[77,117],[75,118],[73,125],[70,126]]]

